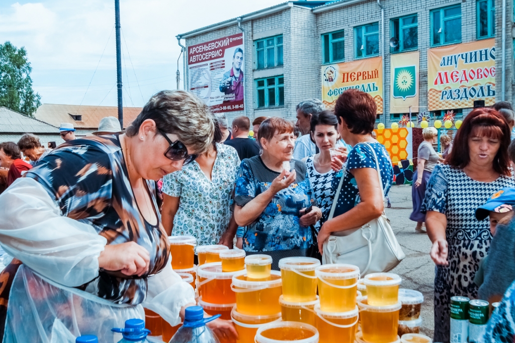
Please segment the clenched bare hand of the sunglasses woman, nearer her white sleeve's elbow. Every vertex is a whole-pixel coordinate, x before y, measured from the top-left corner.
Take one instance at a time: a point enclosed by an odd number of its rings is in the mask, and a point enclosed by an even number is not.
[[[148,271],[150,254],[135,242],[106,245],[98,257],[98,266],[127,276],[142,276]]]

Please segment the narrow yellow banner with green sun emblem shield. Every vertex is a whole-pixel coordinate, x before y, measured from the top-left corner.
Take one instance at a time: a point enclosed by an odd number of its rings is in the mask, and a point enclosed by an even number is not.
[[[390,55],[390,113],[419,112],[420,51]]]

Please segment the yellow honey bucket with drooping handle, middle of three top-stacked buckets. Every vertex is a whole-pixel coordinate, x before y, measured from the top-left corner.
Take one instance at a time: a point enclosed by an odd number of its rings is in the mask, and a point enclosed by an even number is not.
[[[320,310],[349,312],[356,307],[359,267],[351,264],[324,264],[316,267]]]

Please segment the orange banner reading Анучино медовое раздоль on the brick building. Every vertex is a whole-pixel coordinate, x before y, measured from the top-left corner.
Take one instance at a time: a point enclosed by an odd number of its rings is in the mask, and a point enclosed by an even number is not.
[[[495,103],[495,39],[427,51],[429,111],[465,109],[474,100]]]

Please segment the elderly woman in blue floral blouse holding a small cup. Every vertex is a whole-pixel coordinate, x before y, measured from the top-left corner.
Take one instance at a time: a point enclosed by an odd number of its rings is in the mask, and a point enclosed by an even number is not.
[[[262,154],[244,159],[236,180],[234,218],[245,227],[243,249],[248,254],[281,258],[306,256],[313,237],[310,225],[322,217],[306,164],[299,160],[291,172],[283,167],[294,149],[293,124],[272,117],[261,124]],[[313,206],[305,213],[306,208]]]

